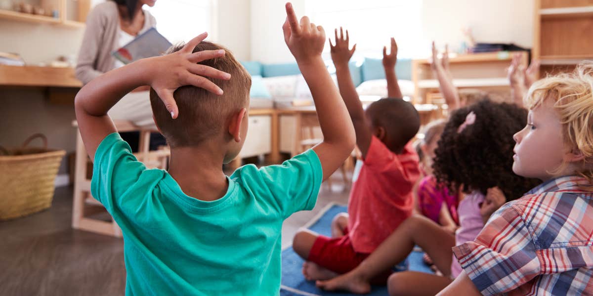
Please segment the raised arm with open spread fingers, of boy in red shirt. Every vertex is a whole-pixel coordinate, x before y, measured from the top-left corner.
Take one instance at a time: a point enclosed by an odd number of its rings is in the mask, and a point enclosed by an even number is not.
[[[356,93],[356,87],[354,86],[354,82],[352,82],[352,77],[350,77],[350,69],[348,68],[348,62],[356,50],[356,44],[350,49],[348,30],[346,30],[346,36],[344,36],[342,27],[340,27],[340,36],[337,34],[337,29],[334,30],[334,36],[335,45],[331,43],[330,39],[330,52],[331,60],[334,62],[334,66],[336,66],[337,85],[340,88],[340,95],[342,95],[342,99],[346,104],[350,120],[352,120],[352,125],[356,132],[356,145],[358,145],[364,158],[366,157],[366,151],[368,151],[371,145],[372,133],[365,112],[362,109],[361,100],[358,97],[358,93]]]

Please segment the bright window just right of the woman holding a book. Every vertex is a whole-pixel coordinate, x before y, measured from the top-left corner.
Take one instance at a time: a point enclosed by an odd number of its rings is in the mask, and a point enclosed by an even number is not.
[[[216,36],[215,0],[160,0],[147,8],[157,19],[157,30],[169,42],[188,42],[198,34]]]

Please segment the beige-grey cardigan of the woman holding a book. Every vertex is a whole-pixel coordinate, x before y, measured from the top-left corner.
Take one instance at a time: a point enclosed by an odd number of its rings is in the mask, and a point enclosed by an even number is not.
[[[157,25],[157,20],[150,12],[144,10],[144,17],[144,27],[139,34]],[[97,4],[88,14],[87,28],[76,62],[76,78],[82,84],[113,69],[115,58],[111,53],[120,47],[117,44],[119,28],[119,11],[113,1]]]

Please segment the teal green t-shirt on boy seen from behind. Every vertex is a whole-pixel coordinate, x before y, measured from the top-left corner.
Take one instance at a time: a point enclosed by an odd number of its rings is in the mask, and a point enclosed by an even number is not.
[[[205,202],[111,133],[97,148],[91,193],[122,228],[126,295],[276,295],[282,222],[313,209],[322,176],[310,149],[238,168],[225,196]]]

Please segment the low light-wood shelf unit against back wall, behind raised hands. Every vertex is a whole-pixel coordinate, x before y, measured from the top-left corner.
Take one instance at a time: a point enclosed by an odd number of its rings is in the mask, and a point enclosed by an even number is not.
[[[508,93],[509,79],[506,69],[511,64],[515,52],[473,53],[449,58],[449,68],[453,84],[458,88],[477,88],[490,93]],[[527,65],[528,54],[521,52],[521,63]],[[433,104],[431,98],[439,93],[439,82],[434,77],[428,59],[412,61],[412,81],[414,82],[414,103]]]

